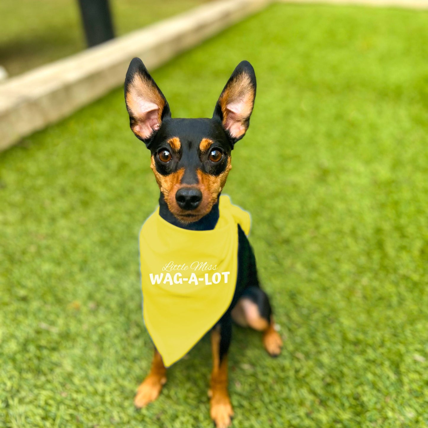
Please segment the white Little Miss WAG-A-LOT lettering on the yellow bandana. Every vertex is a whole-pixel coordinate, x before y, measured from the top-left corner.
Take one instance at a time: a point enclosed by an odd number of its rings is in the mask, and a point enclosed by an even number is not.
[[[183,263],[177,265],[174,262],[168,262],[163,266],[163,272],[149,273],[152,285],[155,284],[183,284],[199,285],[199,282],[205,285],[218,284],[222,279],[227,284],[230,272],[214,272],[217,265],[210,265],[207,262],[193,262],[190,265]],[[177,271],[180,272],[177,272]],[[207,272],[209,271],[209,272]]]

